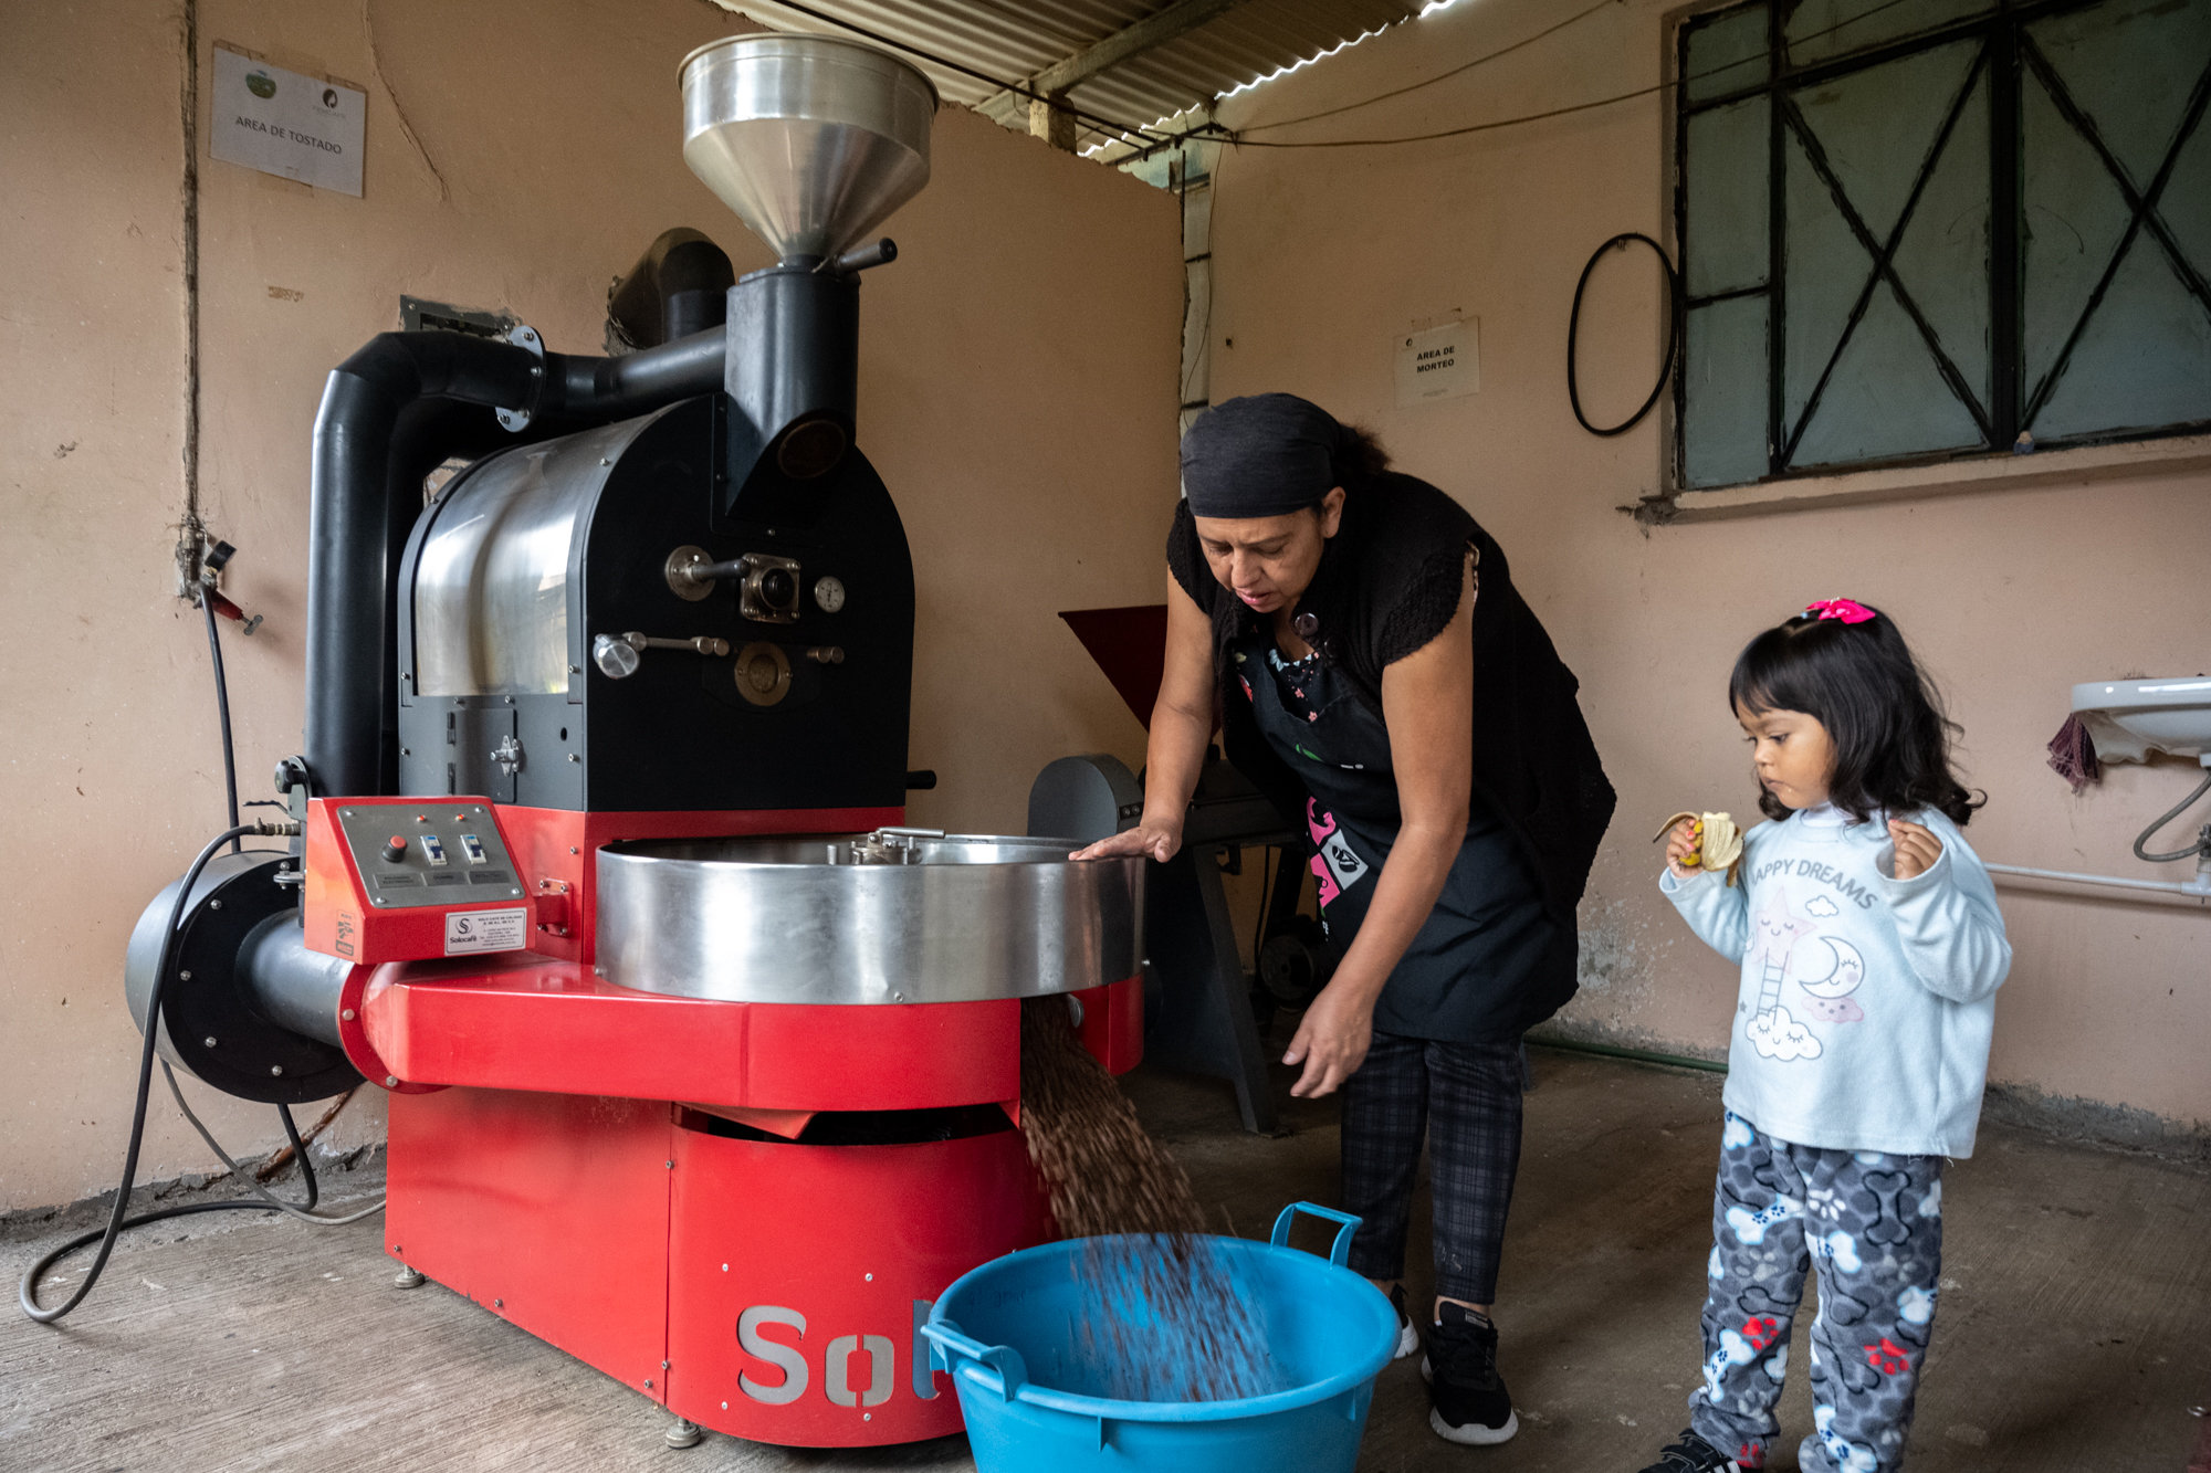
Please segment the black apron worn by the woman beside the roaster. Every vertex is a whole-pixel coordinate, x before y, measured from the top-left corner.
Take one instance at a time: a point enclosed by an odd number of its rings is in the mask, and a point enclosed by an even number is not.
[[[1351,947],[1404,814],[1382,712],[1318,655],[1287,661],[1269,633],[1232,650],[1260,734],[1304,783],[1320,924]],[[1574,993],[1574,933],[1543,909],[1534,871],[1479,801],[1444,894],[1375,1000],[1382,1033],[1497,1044]]]

